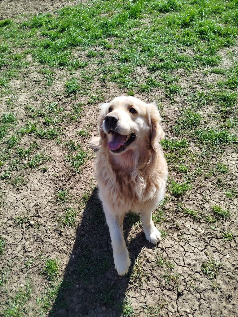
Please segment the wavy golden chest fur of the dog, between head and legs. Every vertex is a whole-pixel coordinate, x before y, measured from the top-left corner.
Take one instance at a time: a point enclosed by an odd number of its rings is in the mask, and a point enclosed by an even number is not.
[[[132,159],[128,154],[128,158],[123,158],[120,163],[103,154],[99,154],[96,161],[99,196],[102,201],[110,202],[116,213],[139,211],[142,205],[154,200],[156,206],[166,183],[167,175],[162,175],[158,162],[153,162],[151,169],[146,164],[137,162],[136,165],[136,158]]]

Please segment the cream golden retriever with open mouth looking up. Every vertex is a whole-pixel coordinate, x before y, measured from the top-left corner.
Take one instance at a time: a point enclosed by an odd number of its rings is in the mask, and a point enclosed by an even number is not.
[[[129,253],[123,237],[123,218],[140,212],[146,239],[157,244],[161,234],[152,211],[162,200],[168,176],[160,140],[164,138],[156,103],[120,96],[101,104],[100,137],[90,141],[97,152],[96,180],[109,227],[115,268],[128,272]]]

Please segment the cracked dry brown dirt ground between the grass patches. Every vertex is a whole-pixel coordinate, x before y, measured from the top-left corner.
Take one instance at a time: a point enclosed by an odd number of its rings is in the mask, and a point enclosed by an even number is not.
[[[0,18],[53,11],[64,4],[76,3],[1,1]],[[234,53],[233,56],[238,55],[237,47],[229,51]],[[223,64],[219,67],[229,67],[231,62],[227,52],[228,49],[220,52]],[[157,224],[164,232],[158,247],[146,241],[138,219],[125,219],[125,239],[132,265],[129,274],[118,276],[114,269],[109,231],[96,195],[93,176],[95,154],[89,150],[89,136],[77,134],[82,129],[87,130],[90,136],[97,134],[98,106],[90,104],[88,96],[75,95],[71,99],[65,93],[65,81],[70,77],[66,70],[56,70],[54,84],[45,87],[43,75],[39,72],[43,66],[35,63],[31,56],[29,62],[26,71],[18,79],[10,81],[12,93],[1,97],[1,114],[17,113],[17,128],[32,119],[26,105],[37,108],[44,102],[56,102],[64,113],[69,114],[73,105],[83,103],[83,116],[74,122],[67,122],[65,118],[59,122],[62,133],[58,141],[38,140],[40,152],[52,159],[36,168],[25,168],[23,186],[15,189],[7,179],[1,180],[0,232],[6,240],[1,256],[1,274],[2,280],[5,274],[6,282],[1,291],[0,314],[13,316],[6,313],[9,301],[13,302],[17,292],[24,291],[29,283],[32,290],[23,304],[25,316],[237,316],[238,201],[237,196],[230,199],[225,195],[226,190],[237,189],[238,186],[237,148],[225,146],[224,151],[210,155],[207,159],[209,164],[201,175],[193,179],[192,188],[182,197],[175,198],[167,193],[162,206],[164,221]],[[183,71],[175,74],[180,75],[180,84],[188,93],[224,79],[223,74],[205,70],[190,72],[189,75]],[[140,75],[145,71],[143,67],[137,69]],[[105,101],[127,93],[113,83],[99,82],[93,89],[102,91]],[[168,138],[172,137],[172,127],[185,102],[184,97],[176,94],[171,100],[160,88],[136,93],[135,96],[144,101],[160,102],[163,129]],[[214,113],[205,108],[205,116],[206,111],[204,126],[207,127]],[[24,135],[19,146],[29,147],[32,138],[32,135]],[[81,143],[88,154],[79,174],[73,173],[65,160],[69,154],[65,142],[69,140]],[[192,157],[196,151],[197,145],[191,142],[188,155]],[[192,171],[196,157],[189,162]],[[210,177],[204,178],[204,174],[219,162],[227,166],[228,173],[221,175],[214,171]],[[24,164],[28,164],[27,157]],[[15,171],[12,173],[14,175]],[[170,169],[170,178],[180,182],[181,174]],[[60,191],[67,191],[64,203],[57,200]],[[230,216],[210,223],[204,217],[190,217],[182,211],[186,207],[203,215],[211,213],[214,205],[229,210]],[[180,209],[179,206],[183,207]],[[77,211],[76,227],[60,225],[59,217],[66,207]],[[17,224],[16,218],[23,216],[27,216],[25,221]],[[224,237],[224,232],[232,234],[230,240]],[[56,283],[62,282],[60,288],[54,289],[55,294],[50,295],[52,281],[42,274],[48,258],[60,261]],[[206,268],[210,269],[208,275],[204,273]]]

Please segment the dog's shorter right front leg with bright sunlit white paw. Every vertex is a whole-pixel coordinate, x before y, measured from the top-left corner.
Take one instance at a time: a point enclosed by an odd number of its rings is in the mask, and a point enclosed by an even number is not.
[[[152,210],[142,210],[141,220],[146,239],[154,244],[161,241],[161,233],[155,227],[152,220]]]

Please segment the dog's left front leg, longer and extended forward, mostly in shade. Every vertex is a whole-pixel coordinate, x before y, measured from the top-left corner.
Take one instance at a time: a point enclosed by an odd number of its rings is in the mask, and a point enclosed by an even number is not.
[[[119,275],[124,275],[128,272],[130,266],[129,253],[123,236],[124,215],[121,217],[115,216],[109,207],[105,205],[103,205],[103,209],[112,241],[115,268]]]

